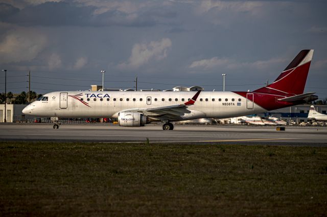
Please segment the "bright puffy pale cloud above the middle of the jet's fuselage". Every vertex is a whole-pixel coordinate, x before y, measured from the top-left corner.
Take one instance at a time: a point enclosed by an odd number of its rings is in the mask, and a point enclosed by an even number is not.
[[[151,41],[148,44],[135,44],[129,60],[118,67],[120,69],[136,69],[152,59],[164,59],[167,57],[167,50],[171,46],[172,42],[169,38],[162,38],[161,41]]]

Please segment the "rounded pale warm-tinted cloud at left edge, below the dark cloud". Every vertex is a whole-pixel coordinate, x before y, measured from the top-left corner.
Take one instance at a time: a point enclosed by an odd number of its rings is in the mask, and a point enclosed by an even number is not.
[[[46,36],[34,29],[8,33],[0,43],[0,63],[33,60],[46,46]]]

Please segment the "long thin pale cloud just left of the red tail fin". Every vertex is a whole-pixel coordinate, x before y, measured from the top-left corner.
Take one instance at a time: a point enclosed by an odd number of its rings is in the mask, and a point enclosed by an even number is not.
[[[287,60],[282,58],[271,58],[269,60],[264,61],[255,61],[255,62],[238,62],[234,59],[219,59],[218,57],[214,57],[211,59],[203,59],[199,61],[194,61],[189,66],[191,69],[198,69],[203,71],[208,71],[212,69],[256,69],[256,70],[264,70],[273,67],[273,65],[279,63],[286,63]]]

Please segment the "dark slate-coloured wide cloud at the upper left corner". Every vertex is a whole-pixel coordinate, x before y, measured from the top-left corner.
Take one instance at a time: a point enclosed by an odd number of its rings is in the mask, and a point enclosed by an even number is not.
[[[21,10],[5,4],[3,11],[6,16],[0,14],[0,21],[24,26],[153,26],[176,16],[170,8],[151,8],[152,3],[148,2],[137,4],[129,1],[80,0],[39,3],[41,4],[32,4]]]

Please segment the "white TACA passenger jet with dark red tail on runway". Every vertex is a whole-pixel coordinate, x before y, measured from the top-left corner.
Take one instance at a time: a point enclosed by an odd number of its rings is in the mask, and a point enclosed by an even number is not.
[[[117,118],[124,127],[161,122],[172,130],[173,121],[231,118],[263,113],[311,102],[314,92],[303,93],[313,50],[301,50],[277,79],[254,91],[59,91],[43,95],[22,113],[58,118]]]

